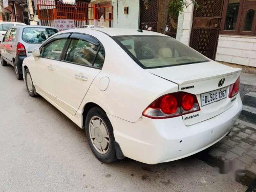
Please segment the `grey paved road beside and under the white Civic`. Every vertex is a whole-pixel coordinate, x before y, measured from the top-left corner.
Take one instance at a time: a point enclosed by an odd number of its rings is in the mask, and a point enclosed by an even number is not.
[[[28,95],[11,66],[0,66],[0,191],[245,191],[218,182],[189,157],[147,165],[112,164],[92,154],[85,132],[45,99]]]

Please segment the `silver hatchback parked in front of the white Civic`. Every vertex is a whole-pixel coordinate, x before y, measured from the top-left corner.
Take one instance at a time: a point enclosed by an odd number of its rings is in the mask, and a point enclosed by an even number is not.
[[[23,79],[22,63],[32,54],[32,50],[57,33],[58,30],[46,26],[20,26],[10,28],[1,42],[1,64],[8,63],[15,69],[16,78]]]

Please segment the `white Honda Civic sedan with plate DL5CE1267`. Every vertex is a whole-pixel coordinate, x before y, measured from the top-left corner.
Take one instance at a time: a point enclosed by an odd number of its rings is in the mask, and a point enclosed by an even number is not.
[[[86,130],[102,162],[181,159],[215,144],[236,122],[241,69],[169,36],[133,29],[62,31],[23,62],[30,96]]]

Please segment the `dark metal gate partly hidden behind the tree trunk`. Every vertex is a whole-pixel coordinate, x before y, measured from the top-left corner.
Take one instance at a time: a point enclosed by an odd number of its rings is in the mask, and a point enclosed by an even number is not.
[[[158,0],[140,0],[140,29],[157,31]],[[178,22],[178,19],[176,20]],[[170,24],[167,17],[165,34],[176,38],[177,29]]]

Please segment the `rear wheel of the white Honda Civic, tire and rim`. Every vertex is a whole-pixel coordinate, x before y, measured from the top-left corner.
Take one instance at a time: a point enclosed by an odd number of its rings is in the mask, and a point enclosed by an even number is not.
[[[106,113],[92,108],[86,117],[86,136],[94,155],[104,163],[117,160],[113,127]]]

